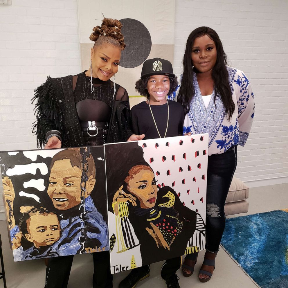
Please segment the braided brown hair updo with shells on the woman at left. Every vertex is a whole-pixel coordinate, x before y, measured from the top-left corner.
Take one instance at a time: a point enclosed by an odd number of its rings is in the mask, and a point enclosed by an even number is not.
[[[124,36],[121,33],[123,25],[120,21],[111,18],[104,18],[101,26],[93,28],[93,33],[90,35],[90,40],[94,41],[95,45],[107,44],[120,46],[124,50],[126,44],[124,43]],[[115,41],[116,40],[116,41]],[[117,44],[118,42],[118,44]]]

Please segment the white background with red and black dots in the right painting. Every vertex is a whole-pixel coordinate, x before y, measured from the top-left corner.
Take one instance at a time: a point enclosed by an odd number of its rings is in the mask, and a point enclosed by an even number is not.
[[[196,195],[201,195],[198,196],[198,199],[202,199],[200,203],[204,204],[206,199],[206,195],[204,195],[208,151],[208,145],[206,144],[206,147],[204,145],[206,141],[208,142],[208,135],[202,134],[173,137],[169,140],[168,138],[157,139],[157,141],[146,140],[141,144],[142,147],[145,147],[143,149],[144,156],[149,156],[149,163],[154,170],[156,180],[158,180],[157,186],[161,188],[166,183],[173,187],[182,200],[181,202],[188,203],[187,205],[191,205],[193,210],[195,210],[195,206],[198,208],[200,205],[197,204],[197,201],[195,203]],[[178,174],[176,174],[175,165],[177,165]],[[154,166],[161,167],[161,169],[155,169]],[[161,179],[163,180],[161,181]],[[199,180],[201,181],[199,182]],[[201,210],[204,209],[201,208]]]

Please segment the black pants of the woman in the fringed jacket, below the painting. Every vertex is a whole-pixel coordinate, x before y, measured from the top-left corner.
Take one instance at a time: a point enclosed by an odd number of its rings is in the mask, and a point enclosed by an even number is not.
[[[45,288],[66,288],[72,267],[73,255],[49,258]],[[109,251],[93,253],[93,288],[112,288]],[[81,277],[81,275],[79,275]]]

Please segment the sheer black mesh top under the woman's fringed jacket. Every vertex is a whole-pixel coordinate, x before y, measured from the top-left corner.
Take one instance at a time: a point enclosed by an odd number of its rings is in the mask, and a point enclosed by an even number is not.
[[[73,76],[73,91],[76,111],[80,122],[109,121],[113,107],[114,83],[111,80],[102,81],[92,78],[94,91],[91,93],[89,76],[82,72]],[[129,101],[129,96],[123,87],[116,84],[115,100]]]

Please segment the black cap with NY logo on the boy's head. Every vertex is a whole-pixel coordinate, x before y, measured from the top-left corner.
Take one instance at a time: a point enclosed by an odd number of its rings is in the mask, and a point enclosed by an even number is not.
[[[175,77],[171,62],[161,58],[148,59],[143,63],[141,79],[151,75]]]

